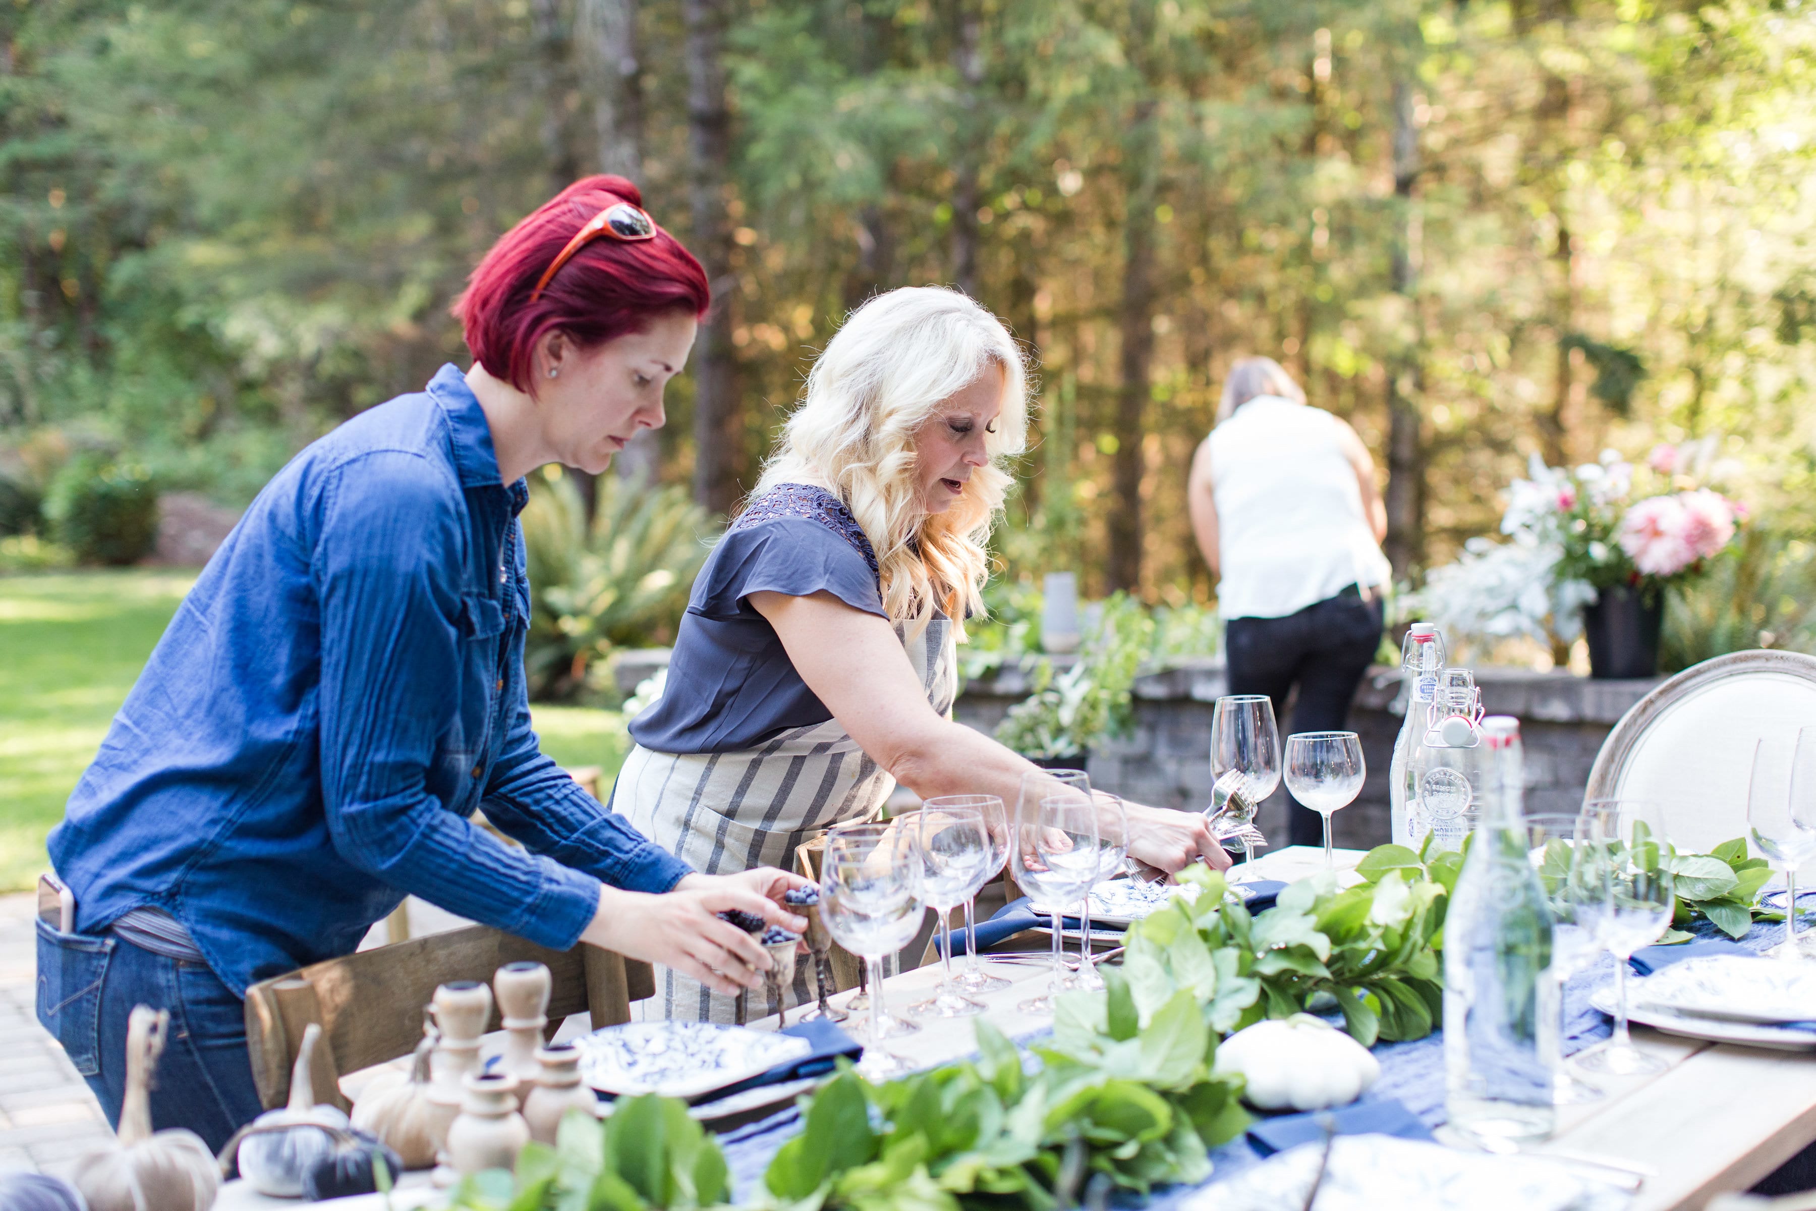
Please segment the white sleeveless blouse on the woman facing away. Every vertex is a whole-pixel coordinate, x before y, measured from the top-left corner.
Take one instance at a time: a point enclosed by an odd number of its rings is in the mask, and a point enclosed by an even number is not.
[[[1387,583],[1335,416],[1257,396],[1209,445],[1226,619],[1286,617],[1347,585]]]

